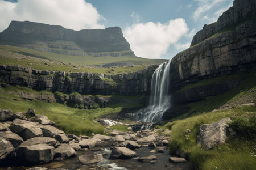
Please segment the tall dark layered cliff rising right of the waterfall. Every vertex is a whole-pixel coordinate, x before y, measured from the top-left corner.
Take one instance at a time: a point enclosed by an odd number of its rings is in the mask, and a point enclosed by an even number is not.
[[[234,1],[234,6],[224,12],[216,23],[205,25],[196,33],[190,48],[172,58],[172,102],[185,103],[220,95],[239,86],[243,79],[224,78],[220,82],[183,87],[201,80],[255,69],[255,6],[255,1]]]

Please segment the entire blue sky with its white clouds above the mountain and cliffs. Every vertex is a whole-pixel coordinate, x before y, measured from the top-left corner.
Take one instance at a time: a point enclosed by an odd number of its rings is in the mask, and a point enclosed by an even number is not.
[[[139,57],[171,59],[233,0],[0,0],[0,31],[11,20],[75,30],[118,26]]]

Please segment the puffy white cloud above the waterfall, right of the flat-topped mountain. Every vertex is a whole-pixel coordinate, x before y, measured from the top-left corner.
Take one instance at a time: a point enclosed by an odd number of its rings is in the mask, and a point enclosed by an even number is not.
[[[168,23],[135,23],[126,27],[125,38],[131,49],[139,57],[160,58],[170,44],[175,44],[188,32],[184,19],[170,20]]]

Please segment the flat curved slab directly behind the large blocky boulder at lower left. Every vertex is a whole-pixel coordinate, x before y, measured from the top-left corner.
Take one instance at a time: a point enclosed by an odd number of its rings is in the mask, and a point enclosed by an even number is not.
[[[44,145],[54,146],[54,147],[60,145],[60,143],[53,138],[35,137],[35,138],[27,139],[27,141],[23,142],[21,145],[19,145],[19,147],[26,147],[26,146],[38,145],[38,144],[44,144]]]

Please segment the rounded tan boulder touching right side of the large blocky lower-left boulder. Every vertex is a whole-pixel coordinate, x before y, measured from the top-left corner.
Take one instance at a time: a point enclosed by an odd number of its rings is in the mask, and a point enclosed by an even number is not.
[[[61,160],[76,156],[74,148],[68,144],[61,144],[54,150],[54,159],[60,158]]]

